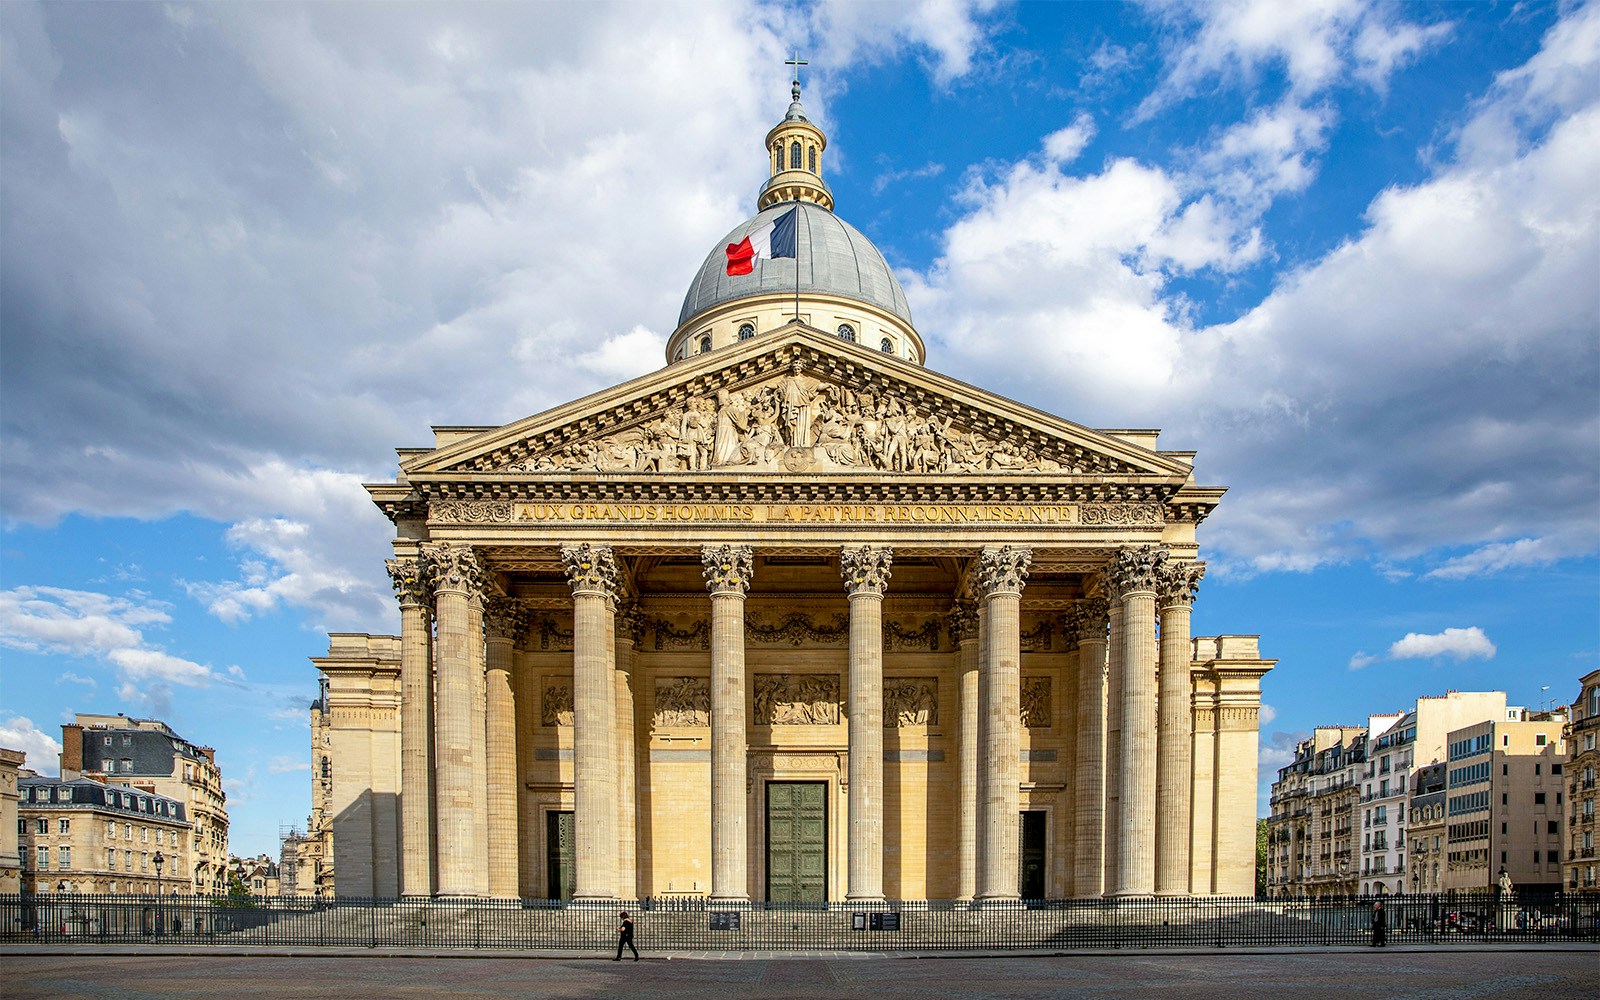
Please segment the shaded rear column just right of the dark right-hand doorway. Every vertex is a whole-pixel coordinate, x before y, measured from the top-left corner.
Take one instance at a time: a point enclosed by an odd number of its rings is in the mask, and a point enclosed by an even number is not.
[[[1070,621],[1078,642],[1072,894],[1082,899],[1106,891],[1106,598],[1080,602]]]

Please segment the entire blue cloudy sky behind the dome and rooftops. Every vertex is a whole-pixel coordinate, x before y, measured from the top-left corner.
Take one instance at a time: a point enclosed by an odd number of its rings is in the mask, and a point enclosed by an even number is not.
[[[1230,486],[1262,773],[1600,659],[1600,10],[0,5],[0,744],[155,714],[237,853],[307,658],[398,624],[362,482],[661,365],[798,48],[928,365]]]

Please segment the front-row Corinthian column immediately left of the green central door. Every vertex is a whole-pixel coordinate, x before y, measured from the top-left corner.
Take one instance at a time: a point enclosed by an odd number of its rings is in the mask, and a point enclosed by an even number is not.
[[[744,843],[744,594],[755,554],[749,546],[704,546],[710,590],[710,898],[750,898]]]

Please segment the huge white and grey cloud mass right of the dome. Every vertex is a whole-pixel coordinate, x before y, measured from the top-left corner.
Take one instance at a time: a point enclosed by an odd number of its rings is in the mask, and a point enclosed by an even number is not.
[[[1224,128],[1187,168],[1029,157],[976,176],[941,258],[907,282],[944,363],[1198,450],[1202,480],[1235,488],[1205,526],[1219,574],[1470,549],[1435,565],[1451,579],[1600,549],[1600,45],[1584,43],[1600,6],[1566,11],[1358,232],[1237,318],[1198,325],[1178,278],[1269,253],[1259,213],[1338,154],[1325,85],[1362,58],[1349,46],[1371,16],[1334,11],[1344,27],[1290,45],[1285,24],[1310,16],[1296,5],[1218,6],[1238,32],[1262,19],[1259,45],[1235,48],[1278,53],[1294,99]]]

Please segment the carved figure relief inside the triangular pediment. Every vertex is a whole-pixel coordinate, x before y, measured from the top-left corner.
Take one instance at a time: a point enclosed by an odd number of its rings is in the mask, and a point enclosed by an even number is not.
[[[1107,462],[1082,448],[1048,453],[1048,445],[963,427],[955,416],[877,386],[858,390],[790,371],[693,397],[622,430],[538,451],[494,472],[1037,475],[1102,472]]]

